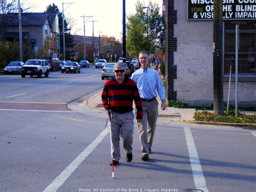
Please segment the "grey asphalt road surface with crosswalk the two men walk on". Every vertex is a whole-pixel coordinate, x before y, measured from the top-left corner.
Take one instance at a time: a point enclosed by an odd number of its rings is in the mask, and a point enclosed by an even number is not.
[[[255,131],[162,119],[148,162],[134,121],[133,160],[125,161],[121,140],[112,178],[106,114],[74,110],[105,81],[92,67],[48,78],[0,76],[1,192],[255,191]]]

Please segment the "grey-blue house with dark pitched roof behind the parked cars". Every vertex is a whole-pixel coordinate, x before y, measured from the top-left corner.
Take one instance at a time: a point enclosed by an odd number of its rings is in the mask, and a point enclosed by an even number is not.
[[[7,41],[14,41],[19,38],[19,15],[10,13],[8,27],[4,34]],[[60,30],[57,13],[21,13],[22,42],[31,44],[30,49],[40,51],[46,42],[46,37],[50,37],[51,49],[49,53],[52,57],[60,55]]]

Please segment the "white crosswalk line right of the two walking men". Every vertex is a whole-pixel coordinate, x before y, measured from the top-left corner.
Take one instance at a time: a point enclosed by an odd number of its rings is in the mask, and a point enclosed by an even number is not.
[[[187,146],[188,146],[188,153],[189,153],[189,160],[191,164],[191,169],[194,177],[195,188],[199,190],[203,190],[204,192],[208,192],[204,173],[202,170],[202,166],[199,161],[199,157],[197,154],[196,146],[194,143],[194,139],[189,127],[184,127]]]

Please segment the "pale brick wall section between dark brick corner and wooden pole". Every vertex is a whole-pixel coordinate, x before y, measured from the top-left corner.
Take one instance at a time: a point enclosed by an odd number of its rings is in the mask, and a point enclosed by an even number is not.
[[[177,100],[197,105],[201,102],[210,104],[213,102],[213,23],[188,21],[187,0],[175,1],[174,9],[178,18],[174,25],[174,36],[177,38],[174,90],[177,91]]]

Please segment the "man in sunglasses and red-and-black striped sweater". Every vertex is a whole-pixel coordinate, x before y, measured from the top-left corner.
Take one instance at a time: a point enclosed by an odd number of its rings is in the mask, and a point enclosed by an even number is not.
[[[132,161],[133,142],[133,101],[137,109],[136,119],[142,119],[142,102],[135,82],[125,77],[126,64],[117,62],[114,65],[115,77],[109,79],[103,86],[101,100],[107,114],[111,116],[111,142],[113,143],[113,165],[116,166],[121,158],[119,141],[123,138],[126,151],[126,161]],[[112,165],[112,163],[110,164]]]

